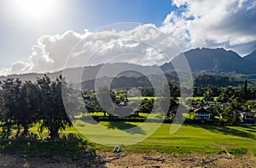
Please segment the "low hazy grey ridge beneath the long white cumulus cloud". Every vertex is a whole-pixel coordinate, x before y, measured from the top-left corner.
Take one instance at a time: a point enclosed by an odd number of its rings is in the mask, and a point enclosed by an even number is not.
[[[103,72],[99,73],[100,70],[104,69]],[[121,70],[127,69],[127,71],[121,72]],[[21,80],[30,80],[32,82],[36,81],[39,77],[46,74],[51,79],[55,79],[59,75],[63,74],[67,78],[68,82],[71,83],[80,83],[81,81],[93,80],[95,78],[103,77],[115,77],[115,76],[126,76],[126,77],[140,77],[142,73],[144,75],[154,74],[157,72],[159,67],[157,66],[139,66],[136,64],[130,63],[113,63],[113,64],[104,64],[91,67],[73,67],[67,68],[57,72],[45,72],[45,73],[25,73],[25,74],[13,74],[8,76],[0,76],[0,81],[3,81],[7,78],[20,78]],[[140,72],[140,73],[138,73]]]

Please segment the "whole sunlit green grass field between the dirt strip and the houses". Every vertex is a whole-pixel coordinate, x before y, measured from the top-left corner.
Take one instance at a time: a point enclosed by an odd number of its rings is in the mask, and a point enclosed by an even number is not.
[[[102,116],[103,113],[91,113],[91,115]],[[148,119],[161,118],[157,113],[152,116],[147,113],[140,113],[140,115]],[[100,126],[96,128],[95,125]],[[130,130],[134,127],[136,130]],[[79,114],[74,127],[62,131],[61,134],[83,135],[84,140],[91,142],[99,152],[111,152],[113,146],[124,144],[125,147],[121,148],[124,152],[166,154],[229,152],[236,155],[252,151],[256,155],[256,126],[182,125],[173,135],[170,134],[170,127],[171,124],[122,121],[101,121],[97,124],[85,122],[82,114]],[[30,131],[38,133],[38,125],[33,126]],[[48,136],[46,130],[43,136],[44,138]],[[146,139],[145,136],[147,136]],[[137,139],[142,141],[137,142]],[[102,142],[108,143],[108,146],[102,145]],[[135,144],[126,145],[127,142]]]

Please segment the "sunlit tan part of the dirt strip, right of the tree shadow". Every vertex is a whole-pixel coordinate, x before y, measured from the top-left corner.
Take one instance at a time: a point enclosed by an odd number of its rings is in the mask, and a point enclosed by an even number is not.
[[[229,154],[106,154],[107,167],[256,167],[249,155],[232,157]]]

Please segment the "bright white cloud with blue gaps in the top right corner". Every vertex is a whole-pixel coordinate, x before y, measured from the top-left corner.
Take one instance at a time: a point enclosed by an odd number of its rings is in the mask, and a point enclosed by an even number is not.
[[[173,0],[177,7],[160,29],[184,49],[224,47],[240,55],[256,49],[256,2],[253,0]]]

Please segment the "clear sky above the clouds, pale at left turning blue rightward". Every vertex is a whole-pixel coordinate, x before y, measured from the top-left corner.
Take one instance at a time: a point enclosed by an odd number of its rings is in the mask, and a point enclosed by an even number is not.
[[[15,61],[27,61],[32,45],[45,34],[61,34],[67,30],[93,31],[119,22],[154,23],[160,26],[172,10],[170,0],[60,0],[54,14],[34,20],[15,12],[9,0],[0,1],[0,68]]]

